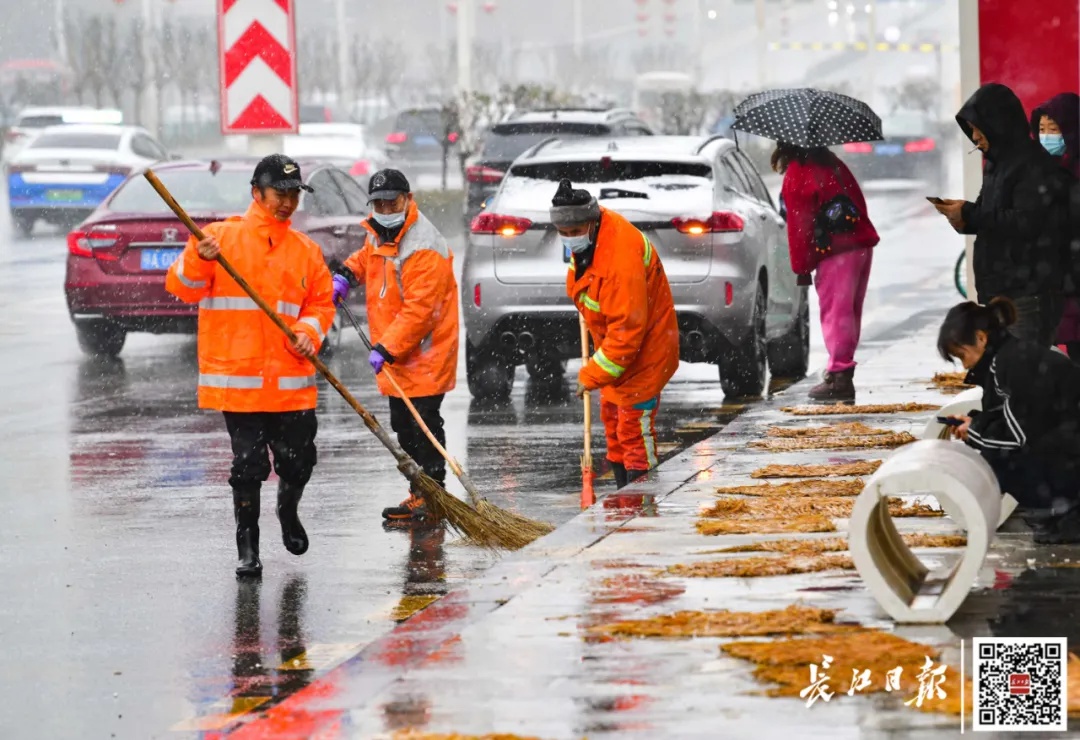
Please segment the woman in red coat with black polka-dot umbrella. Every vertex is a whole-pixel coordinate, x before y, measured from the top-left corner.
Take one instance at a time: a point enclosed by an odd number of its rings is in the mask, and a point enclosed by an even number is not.
[[[787,248],[798,284],[818,291],[828,365],[810,398],[854,403],[855,349],[873,247],[879,237],[851,171],[827,147],[881,138],[865,104],[811,89],[753,95],[735,109],[734,129],[773,138],[772,169],[784,176]],[[811,273],[813,280],[811,281]]]

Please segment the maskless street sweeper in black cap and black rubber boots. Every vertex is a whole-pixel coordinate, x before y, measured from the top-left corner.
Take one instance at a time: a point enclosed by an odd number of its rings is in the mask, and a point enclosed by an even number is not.
[[[278,473],[278,519],[285,549],[308,550],[297,507],[315,467],[315,368],[309,361],[334,323],[333,284],[323,253],[289,228],[303,185],[284,154],[264,158],[252,177],[252,204],[191,237],[168,268],[165,290],[199,304],[199,407],[222,412],[232,440],[238,576],[259,576],[259,498]],[[224,255],[278,314],[296,341],[272,325],[217,263]]]

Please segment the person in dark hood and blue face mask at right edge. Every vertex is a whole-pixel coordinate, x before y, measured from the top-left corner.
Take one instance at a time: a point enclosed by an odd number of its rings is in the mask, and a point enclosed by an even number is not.
[[[1031,111],[1031,133],[1042,148],[1071,175],[1070,243],[1064,255],[1065,312],[1057,326],[1057,342],[1074,362],[1080,362],[1080,95],[1061,93]]]

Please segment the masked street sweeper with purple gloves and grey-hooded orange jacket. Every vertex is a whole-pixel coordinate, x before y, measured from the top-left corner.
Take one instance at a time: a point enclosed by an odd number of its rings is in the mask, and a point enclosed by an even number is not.
[[[458,376],[458,282],[454,254],[438,229],[420,213],[408,179],[397,170],[380,170],[368,180],[373,213],[363,226],[364,246],[343,265],[334,265],[334,304],[364,285],[372,331],[368,364],[379,391],[390,399],[390,427],[402,449],[440,485],[446,461],[413,418],[382,368],[392,366],[397,386],[420,413],[438,443],[446,446],[442,405]],[[427,504],[416,492],[388,507],[389,523],[423,524]]]

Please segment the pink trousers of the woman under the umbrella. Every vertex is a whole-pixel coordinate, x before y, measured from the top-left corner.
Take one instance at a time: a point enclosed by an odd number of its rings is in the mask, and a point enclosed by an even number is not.
[[[855,348],[863,328],[863,300],[873,261],[874,250],[860,248],[826,257],[818,264],[813,284],[821,307],[821,333],[828,350],[829,373],[855,366]]]

